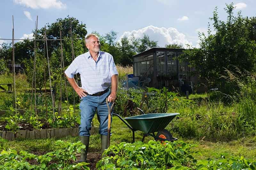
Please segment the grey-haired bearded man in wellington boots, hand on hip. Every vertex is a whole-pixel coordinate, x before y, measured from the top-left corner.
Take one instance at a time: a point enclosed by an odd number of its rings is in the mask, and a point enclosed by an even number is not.
[[[84,39],[88,52],[79,55],[65,71],[70,85],[80,96],[81,125],[79,139],[86,146],[82,150],[80,162],[87,158],[92,118],[97,109],[100,122],[101,154],[108,148],[108,98],[109,107],[116,100],[118,73],[113,56],[100,51],[100,40],[95,34],[89,34]],[[80,73],[82,87],[76,84],[74,74]],[[111,91],[109,87],[111,86]],[[111,114],[112,122],[112,114]]]

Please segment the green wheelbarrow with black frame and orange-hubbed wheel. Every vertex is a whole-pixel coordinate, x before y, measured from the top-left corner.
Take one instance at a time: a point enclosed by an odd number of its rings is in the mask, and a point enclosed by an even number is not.
[[[117,116],[120,120],[124,122],[124,124],[128,126],[129,129],[132,130],[133,143],[135,141],[134,132],[137,130],[144,132],[143,138],[141,140],[142,142],[147,136],[152,136],[154,137],[155,140],[160,140],[160,141],[178,140],[177,138],[172,137],[172,134],[164,128],[172,121],[172,119],[176,115],[179,115],[179,113],[144,114],[144,112],[141,109],[139,110],[143,113],[143,115],[126,117],[124,119],[120,115],[113,113],[113,115]],[[156,135],[155,135],[155,132],[157,132]]]

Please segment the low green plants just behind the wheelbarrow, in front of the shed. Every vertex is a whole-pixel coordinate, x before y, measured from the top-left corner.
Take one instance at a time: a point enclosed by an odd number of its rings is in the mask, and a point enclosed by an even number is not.
[[[190,106],[195,103],[193,100],[185,100],[178,97],[178,93],[168,92],[163,89],[148,88],[148,104],[142,103],[142,90],[136,89],[119,89],[117,100],[114,106],[115,113],[122,116],[131,116],[138,114],[136,107],[140,107],[145,113],[166,113],[168,107],[178,108]],[[142,105],[141,105],[142,103]]]

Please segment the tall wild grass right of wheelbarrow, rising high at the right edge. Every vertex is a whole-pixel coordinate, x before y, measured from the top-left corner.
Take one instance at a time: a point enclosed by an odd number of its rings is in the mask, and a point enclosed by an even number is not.
[[[217,103],[169,107],[168,112],[179,112],[181,117],[170,129],[183,137],[210,140],[226,141],[256,135],[256,76],[238,69],[236,72],[226,71],[228,76],[222,76],[228,84],[226,88],[232,86],[235,90],[227,94],[220,92],[218,98],[215,95],[213,102],[219,99]],[[232,89],[226,89],[226,92],[230,91]],[[227,104],[225,100],[230,102]]]

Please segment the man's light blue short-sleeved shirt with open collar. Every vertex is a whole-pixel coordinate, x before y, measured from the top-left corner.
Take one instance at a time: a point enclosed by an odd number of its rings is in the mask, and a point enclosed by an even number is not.
[[[65,70],[69,78],[79,73],[82,88],[88,94],[102,92],[110,87],[111,77],[118,74],[113,56],[100,51],[95,62],[89,52],[78,55]]]

